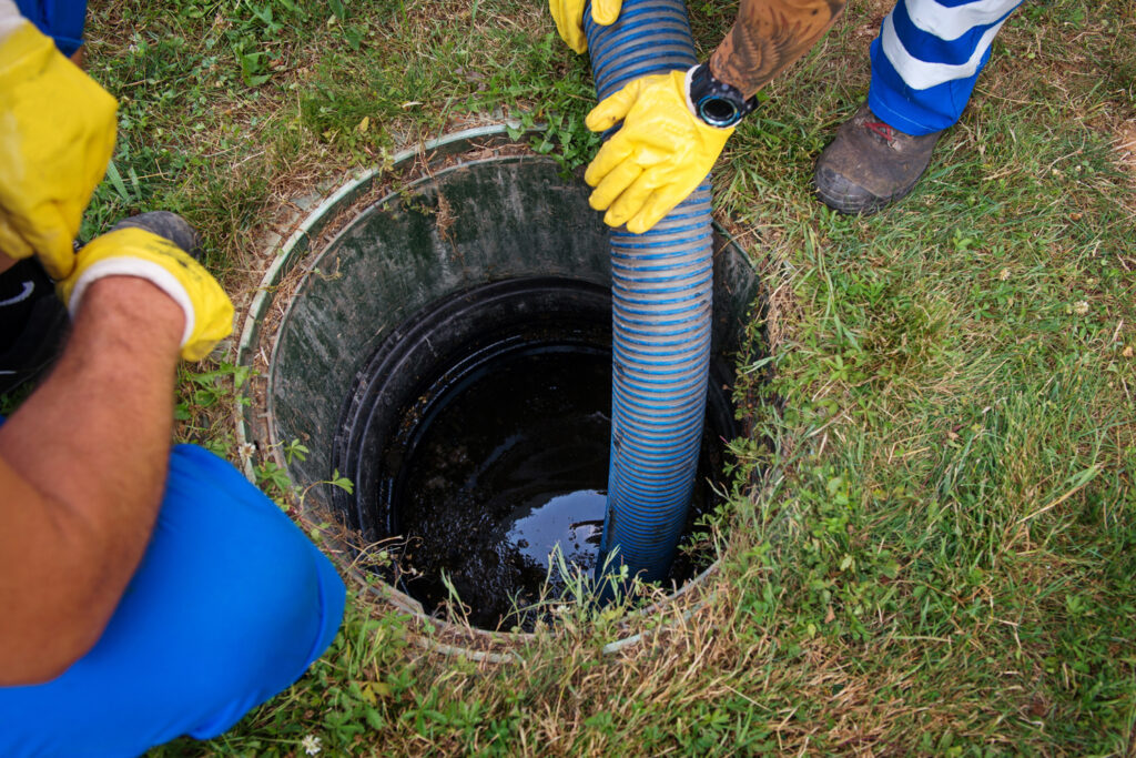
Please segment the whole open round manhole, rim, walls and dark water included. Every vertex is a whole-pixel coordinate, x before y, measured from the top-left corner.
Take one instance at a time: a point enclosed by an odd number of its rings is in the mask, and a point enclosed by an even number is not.
[[[578,177],[482,139],[446,141],[450,157],[390,193],[365,177],[317,209],[300,241],[337,217],[334,236],[286,277],[278,324],[247,331],[242,355],[269,356],[253,436],[303,443],[286,461],[301,488],[336,472],[352,481],[351,493],[311,492],[349,542],[384,557],[369,570],[389,597],[434,615],[457,595],[474,626],[527,628],[565,590],[554,547],[587,575],[599,547],[609,245]],[[367,192],[382,197],[359,203]],[[716,239],[705,433],[675,586],[712,559],[696,522],[741,431],[729,394],[755,292],[744,255]]]

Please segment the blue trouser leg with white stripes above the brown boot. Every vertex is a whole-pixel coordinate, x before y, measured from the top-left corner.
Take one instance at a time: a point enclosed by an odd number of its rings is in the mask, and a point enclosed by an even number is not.
[[[907,134],[951,126],[1022,0],[897,0],[871,43],[868,105]]]

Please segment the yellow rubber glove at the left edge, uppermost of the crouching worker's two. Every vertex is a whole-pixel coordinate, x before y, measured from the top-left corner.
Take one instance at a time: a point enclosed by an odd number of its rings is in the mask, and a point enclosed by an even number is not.
[[[72,241],[115,147],[117,102],[23,22],[0,41],[0,251],[72,272]]]

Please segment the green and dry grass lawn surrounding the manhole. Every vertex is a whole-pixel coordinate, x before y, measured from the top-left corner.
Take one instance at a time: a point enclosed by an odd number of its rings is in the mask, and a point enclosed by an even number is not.
[[[618,655],[608,619],[496,666],[359,592],[295,686],[154,755],[1131,755],[1131,3],[1027,3],[914,194],[870,218],[809,189],[888,6],[851,5],[719,164],[770,303],[738,397],[776,445],[735,445],[740,481],[766,476],[735,488],[712,600]],[[734,6],[692,13],[705,52]],[[181,211],[239,295],[290,203],[399,147],[503,113],[551,123],[568,165],[594,150],[586,61],[541,3],[112,2],[89,39],[122,128],[84,234]],[[185,373],[179,406],[231,455],[233,370]]]

